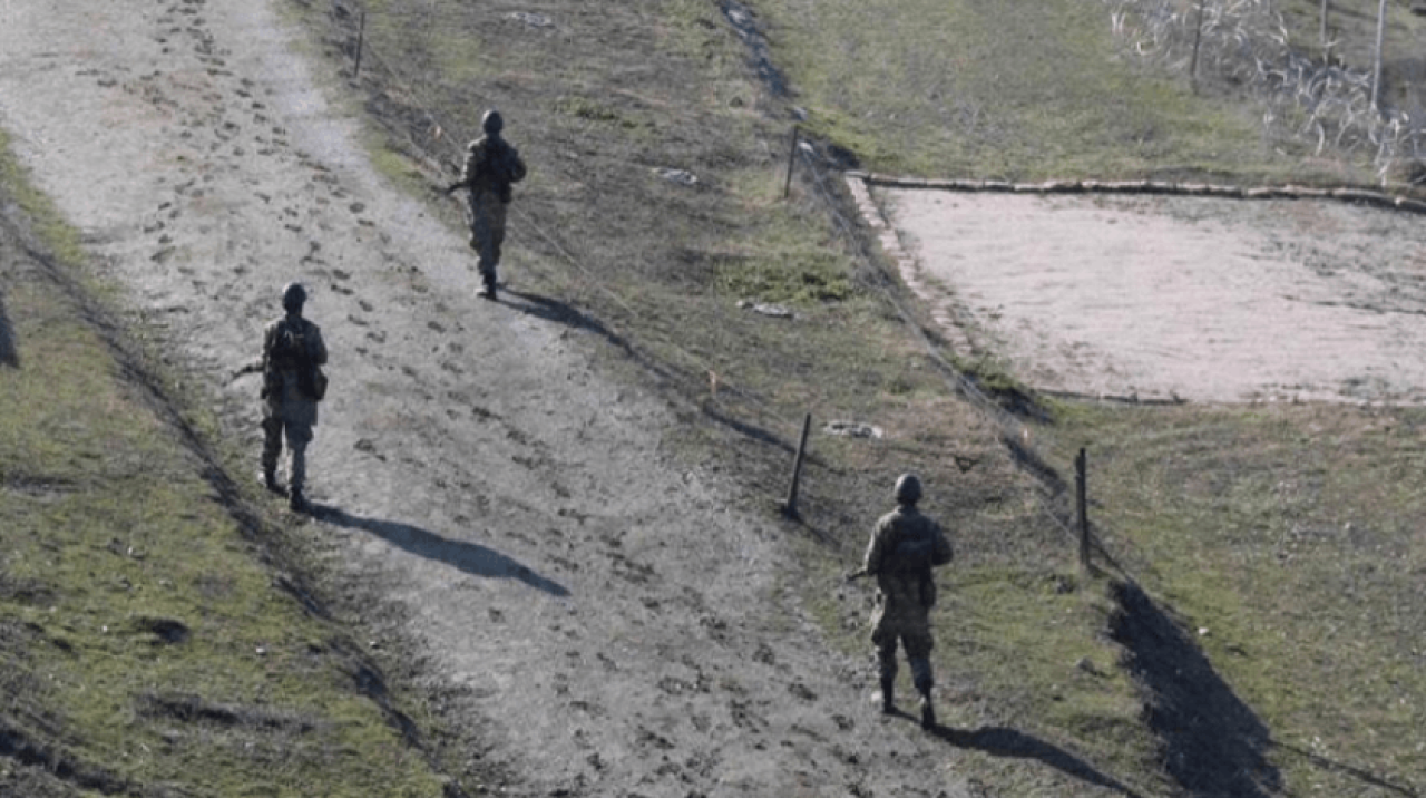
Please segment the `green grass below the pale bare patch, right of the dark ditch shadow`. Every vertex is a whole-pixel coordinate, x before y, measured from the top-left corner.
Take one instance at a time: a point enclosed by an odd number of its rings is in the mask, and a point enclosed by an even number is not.
[[[1285,782],[1426,768],[1419,410],[1082,410],[1098,514],[1271,729]],[[1338,765],[1338,767],[1333,767]],[[1353,775],[1355,771],[1358,775]],[[1417,784],[1419,788],[1419,784]],[[1370,792],[1366,792],[1370,794]]]

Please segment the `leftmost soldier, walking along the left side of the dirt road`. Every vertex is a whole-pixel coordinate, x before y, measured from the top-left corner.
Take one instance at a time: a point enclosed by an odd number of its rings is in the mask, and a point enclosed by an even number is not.
[[[282,454],[282,433],[292,453],[288,470],[288,507],[308,510],[307,444],[317,425],[317,403],[327,394],[327,377],[321,365],[327,363],[322,331],[302,318],[307,290],[299,283],[282,288],[282,308],[287,315],[268,323],[262,333],[262,484],[270,491],[282,493],[277,483],[277,461]]]

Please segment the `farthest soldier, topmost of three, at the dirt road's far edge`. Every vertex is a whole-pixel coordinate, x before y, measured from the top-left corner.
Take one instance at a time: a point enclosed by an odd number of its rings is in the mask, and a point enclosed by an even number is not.
[[[481,118],[485,136],[466,147],[461,180],[446,186],[446,196],[461,187],[469,190],[471,248],[478,253],[482,288],[479,296],[495,298],[495,268],[501,264],[505,243],[505,210],[511,204],[511,186],[525,180],[525,161],[519,151],[501,137],[505,120],[489,110]]]

